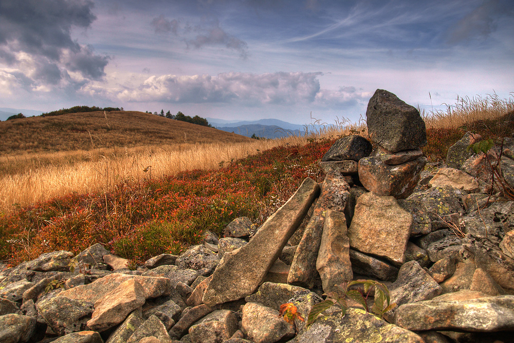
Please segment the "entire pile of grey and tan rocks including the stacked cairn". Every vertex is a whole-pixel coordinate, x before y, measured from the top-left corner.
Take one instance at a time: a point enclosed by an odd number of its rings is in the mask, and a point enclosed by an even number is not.
[[[320,162],[324,182],[305,179],[256,233],[238,218],[226,237],[207,232],[137,270],[100,244],[3,268],[0,342],[512,342],[514,202],[488,198],[483,154],[455,147],[448,165],[459,169],[422,172],[425,127],[411,107],[378,90],[375,149],[338,140]],[[292,303],[306,317],[323,292],[363,278],[398,304],[384,319],[352,304],[309,327],[279,315]]]

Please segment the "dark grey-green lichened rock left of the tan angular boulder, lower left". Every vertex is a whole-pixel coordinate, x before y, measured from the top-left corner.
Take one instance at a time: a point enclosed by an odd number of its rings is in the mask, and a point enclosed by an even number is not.
[[[86,300],[53,297],[36,304],[38,312],[59,336],[87,330],[95,304]]]

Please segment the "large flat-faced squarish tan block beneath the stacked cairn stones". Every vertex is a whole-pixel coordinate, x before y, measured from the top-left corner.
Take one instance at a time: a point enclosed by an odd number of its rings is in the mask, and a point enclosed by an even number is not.
[[[394,197],[370,192],[357,200],[347,235],[352,248],[401,265],[411,227],[412,215]]]

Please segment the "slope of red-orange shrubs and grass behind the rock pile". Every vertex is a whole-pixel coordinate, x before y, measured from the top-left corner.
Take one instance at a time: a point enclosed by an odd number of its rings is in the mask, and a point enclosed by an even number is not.
[[[514,134],[514,99],[493,100],[473,98],[466,106],[450,106],[447,114],[425,115],[428,145],[423,150],[427,158],[442,161],[448,148],[467,131],[494,139]],[[480,118],[476,117],[479,109]],[[438,125],[437,116],[450,123],[455,116],[455,124]],[[200,167],[188,165],[190,170],[168,176],[156,172],[157,162],[143,172],[146,163],[141,161],[134,164],[139,174],[127,176],[115,168],[121,162],[114,159],[113,165],[93,168],[111,175],[108,182],[98,181],[96,190],[70,188],[34,205],[15,205],[0,212],[0,259],[16,264],[54,250],[77,253],[98,242],[136,265],[163,252],[178,254],[199,242],[206,230],[220,234],[238,216],[248,216],[260,225],[305,177],[321,182],[318,161],[340,135],[359,131],[365,136],[362,129],[332,127],[289,141],[258,140],[253,142],[253,150],[244,148],[241,157],[227,145],[203,157],[192,157],[203,163]],[[198,152],[203,148],[199,145]],[[152,154],[158,155],[157,151],[155,148]],[[203,160],[213,156],[210,164]],[[163,157],[161,163],[170,164],[170,158]],[[56,179],[55,183],[59,182]],[[19,193],[27,192],[24,184],[17,186]]]

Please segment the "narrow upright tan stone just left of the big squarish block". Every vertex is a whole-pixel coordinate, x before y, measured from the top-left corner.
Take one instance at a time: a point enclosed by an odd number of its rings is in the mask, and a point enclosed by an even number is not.
[[[325,293],[336,291],[336,284],[351,281],[353,278],[350,241],[346,230],[344,213],[328,210],[316,261]]]

